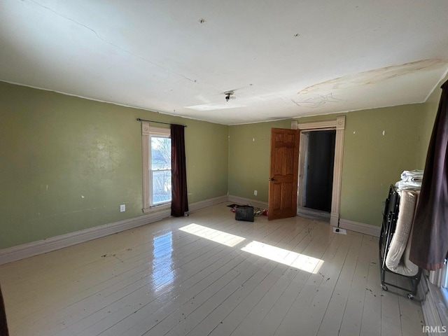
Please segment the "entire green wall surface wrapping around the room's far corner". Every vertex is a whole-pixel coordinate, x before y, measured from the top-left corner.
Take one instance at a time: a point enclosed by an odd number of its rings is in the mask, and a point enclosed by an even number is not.
[[[380,225],[388,186],[424,167],[439,97],[298,118],[346,116],[341,218]],[[136,118],[188,125],[190,203],[226,194],[267,202],[270,130],[291,121],[225,126],[1,82],[0,116],[0,248],[141,216]]]

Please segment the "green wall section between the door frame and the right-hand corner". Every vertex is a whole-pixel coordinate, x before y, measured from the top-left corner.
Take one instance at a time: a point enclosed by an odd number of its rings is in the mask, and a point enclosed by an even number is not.
[[[340,217],[381,225],[384,199],[404,170],[419,165],[421,104],[347,113]],[[384,135],[383,135],[384,132]]]

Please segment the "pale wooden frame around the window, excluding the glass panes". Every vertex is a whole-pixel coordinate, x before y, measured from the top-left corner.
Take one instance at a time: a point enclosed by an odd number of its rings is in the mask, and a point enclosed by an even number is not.
[[[143,212],[149,212],[155,207],[168,208],[171,206],[171,201],[152,204],[151,202],[151,136],[160,136],[171,138],[171,130],[167,127],[153,127],[148,122],[141,123],[141,148],[143,160]]]

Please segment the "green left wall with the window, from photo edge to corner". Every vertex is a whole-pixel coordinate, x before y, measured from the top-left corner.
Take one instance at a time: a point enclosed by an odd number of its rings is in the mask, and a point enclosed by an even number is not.
[[[2,82],[0,116],[0,248],[143,215],[137,118],[188,125],[190,203],[228,192],[227,126]]]

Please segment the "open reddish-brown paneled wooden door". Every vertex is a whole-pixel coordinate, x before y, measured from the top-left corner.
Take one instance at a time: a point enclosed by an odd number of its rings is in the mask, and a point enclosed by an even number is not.
[[[272,128],[269,176],[269,220],[297,213],[299,130]]]

